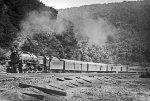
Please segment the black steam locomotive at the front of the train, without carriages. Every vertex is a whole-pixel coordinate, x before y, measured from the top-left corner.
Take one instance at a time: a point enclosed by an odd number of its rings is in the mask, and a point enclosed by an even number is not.
[[[22,73],[27,71],[35,71],[39,69],[38,58],[33,53],[29,52],[12,52],[10,55],[9,65],[7,66],[8,73]]]

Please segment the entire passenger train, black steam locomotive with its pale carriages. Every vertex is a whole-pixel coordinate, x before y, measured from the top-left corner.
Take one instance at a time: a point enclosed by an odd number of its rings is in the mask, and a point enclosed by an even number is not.
[[[36,56],[30,52],[12,52],[7,66],[8,73],[26,72],[129,72],[128,66],[105,63],[84,62],[57,57]]]

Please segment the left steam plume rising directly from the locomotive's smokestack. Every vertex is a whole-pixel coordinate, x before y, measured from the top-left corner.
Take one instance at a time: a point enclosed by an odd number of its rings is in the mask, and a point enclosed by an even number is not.
[[[54,23],[55,20],[50,18],[50,14],[47,11],[30,12],[26,19],[20,24],[21,31],[18,33],[19,46],[21,46],[27,38],[33,37],[35,33],[46,32],[51,34],[54,29]]]

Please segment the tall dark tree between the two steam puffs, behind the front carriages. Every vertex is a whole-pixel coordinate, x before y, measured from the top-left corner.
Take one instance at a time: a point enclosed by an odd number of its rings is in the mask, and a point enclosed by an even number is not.
[[[74,33],[74,25],[67,20],[65,20],[65,23],[67,23],[66,30],[56,36],[63,47],[64,56],[62,58],[76,59],[77,40]]]

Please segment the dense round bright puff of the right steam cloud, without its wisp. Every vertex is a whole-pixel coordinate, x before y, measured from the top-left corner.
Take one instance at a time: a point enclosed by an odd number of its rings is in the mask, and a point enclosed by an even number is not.
[[[90,43],[104,45],[108,36],[113,36],[116,29],[108,21],[101,18],[84,19],[81,34],[89,38]]]

